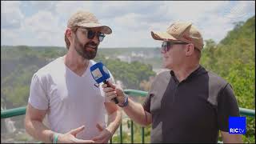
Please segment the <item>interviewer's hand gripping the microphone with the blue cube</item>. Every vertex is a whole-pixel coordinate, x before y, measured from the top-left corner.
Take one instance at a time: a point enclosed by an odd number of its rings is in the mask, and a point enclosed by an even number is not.
[[[107,87],[106,84],[102,85],[103,91],[105,92],[106,98],[110,102],[114,102],[113,98],[118,98],[118,104],[121,105],[122,102],[125,101],[125,94],[121,88],[121,86],[117,86],[112,84],[111,82],[108,82],[110,87]]]

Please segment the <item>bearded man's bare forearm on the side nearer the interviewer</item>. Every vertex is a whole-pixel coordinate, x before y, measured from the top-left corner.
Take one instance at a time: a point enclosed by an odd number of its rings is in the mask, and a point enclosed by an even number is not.
[[[118,126],[121,123],[122,119],[122,111],[116,110],[114,113],[108,115],[108,126],[106,127],[107,130],[110,130],[111,134],[118,129]]]

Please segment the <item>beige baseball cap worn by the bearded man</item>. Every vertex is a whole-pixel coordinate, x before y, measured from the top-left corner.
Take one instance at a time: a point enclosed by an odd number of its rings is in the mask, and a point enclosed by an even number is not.
[[[98,19],[94,16],[94,14],[88,11],[79,10],[75,14],[71,16],[69,21],[67,22],[67,27],[72,28],[74,26],[83,26],[87,28],[101,27],[101,32],[103,34],[111,34],[112,30],[109,26],[104,26],[98,22]]]

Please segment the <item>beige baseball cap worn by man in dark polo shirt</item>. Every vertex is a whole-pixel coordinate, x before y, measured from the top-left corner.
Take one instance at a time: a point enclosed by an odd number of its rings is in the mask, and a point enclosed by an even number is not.
[[[151,31],[151,36],[155,40],[182,41],[193,43],[199,50],[203,48],[202,34],[191,22],[174,22],[166,32]]]

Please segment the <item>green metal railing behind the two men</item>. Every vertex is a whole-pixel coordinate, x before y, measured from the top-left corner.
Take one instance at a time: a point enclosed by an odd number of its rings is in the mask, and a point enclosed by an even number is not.
[[[132,96],[140,96],[140,97],[146,97],[148,94],[146,91],[142,90],[124,90],[126,94],[132,95]],[[245,108],[239,108],[240,115],[241,116],[247,116],[247,117],[255,117],[255,110],[245,109]],[[10,110],[1,110],[1,119],[2,118],[11,118],[18,115],[26,114],[26,106],[10,109]],[[144,138],[144,127],[141,126],[141,138],[142,143],[145,143]],[[122,143],[122,122],[119,126],[119,142]],[[134,143],[134,122],[130,120],[130,142]],[[112,138],[110,139],[110,143],[112,143]]]

